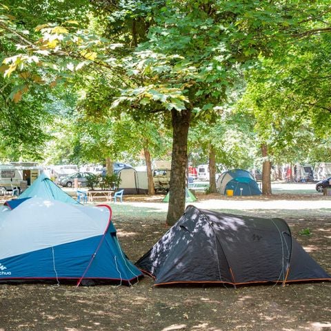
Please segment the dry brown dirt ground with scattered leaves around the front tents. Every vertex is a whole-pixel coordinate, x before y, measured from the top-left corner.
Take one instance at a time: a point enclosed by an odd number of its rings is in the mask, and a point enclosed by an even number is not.
[[[219,195],[200,198],[201,203],[225,199]],[[301,201],[303,205],[327,199],[329,208],[310,210],[307,214],[292,210],[285,214],[285,220],[293,236],[330,274],[331,199],[328,198],[286,195],[268,199]],[[228,201],[236,199],[231,197]],[[265,201],[261,197],[251,200]],[[126,203],[131,201],[148,202],[145,198],[126,199]],[[157,197],[154,201],[158,201]],[[259,208],[245,212],[268,216],[268,212]],[[137,261],[168,230],[164,213],[128,217],[114,208],[113,221],[122,248],[131,261]],[[307,229],[310,235],[303,235]],[[2,284],[0,331],[14,330],[328,331],[331,330],[331,282],[237,289],[229,286],[155,288],[148,277],[132,287]]]

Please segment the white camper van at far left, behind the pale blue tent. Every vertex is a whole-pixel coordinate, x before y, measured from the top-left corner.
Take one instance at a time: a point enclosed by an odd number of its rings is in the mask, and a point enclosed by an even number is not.
[[[0,165],[0,187],[6,190],[30,186],[43,169],[34,162],[11,162]]]

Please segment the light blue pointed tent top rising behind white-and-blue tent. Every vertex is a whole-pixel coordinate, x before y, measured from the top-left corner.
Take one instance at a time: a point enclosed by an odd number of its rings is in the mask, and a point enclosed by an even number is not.
[[[57,184],[49,179],[44,173],[40,174],[32,185],[19,195],[19,199],[23,198],[43,198],[72,203],[75,205],[79,204],[77,200],[61,190],[61,188],[59,188],[59,186],[57,186]]]

